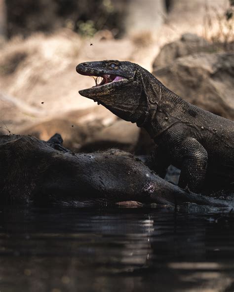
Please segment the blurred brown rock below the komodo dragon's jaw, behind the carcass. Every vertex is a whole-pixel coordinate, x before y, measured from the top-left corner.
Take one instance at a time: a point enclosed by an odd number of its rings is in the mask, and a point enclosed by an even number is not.
[[[139,128],[98,107],[70,111],[20,131],[20,134],[44,141],[55,133],[60,133],[64,137],[64,146],[74,151],[89,152],[112,147],[132,151],[138,140]]]

